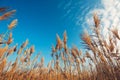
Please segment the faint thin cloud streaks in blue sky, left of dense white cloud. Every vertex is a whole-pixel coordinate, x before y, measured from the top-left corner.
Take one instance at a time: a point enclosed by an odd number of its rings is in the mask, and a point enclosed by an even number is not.
[[[70,20],[75,26],[84,26],[85,15],[95,6],[93,1],[88,1],[87,3],[81,0],[61,1],[58,8],[63,10],[62,19],[67,19],[66,21]]]

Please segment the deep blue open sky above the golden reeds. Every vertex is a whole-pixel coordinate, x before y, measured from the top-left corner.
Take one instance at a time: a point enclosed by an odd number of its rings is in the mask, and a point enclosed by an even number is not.
[[[14,43],[22,44],[29,39],[37,52],[42,52],[46,63],[51,59],[51,45],[56,42],[56,33],[62,38],[66,30],[68,45],[81,48],[80,34],[85,26],[87,13],[97,7],[99,0],[0,0],[0,6],[16,9],[11,19],[0,22],[0,33],[7,30],[12,19],[18,19],[12,31]]]

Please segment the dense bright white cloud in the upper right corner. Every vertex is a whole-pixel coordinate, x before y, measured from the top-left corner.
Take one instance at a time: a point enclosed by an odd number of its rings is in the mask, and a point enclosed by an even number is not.
[[[104,35],[108,37],[107,28],[117,27],[120,30],[120,0],[102,0],[100,8],[90,11],[86,17],[89,25],[93,24],[93,13],[97,13],[101,20]]]

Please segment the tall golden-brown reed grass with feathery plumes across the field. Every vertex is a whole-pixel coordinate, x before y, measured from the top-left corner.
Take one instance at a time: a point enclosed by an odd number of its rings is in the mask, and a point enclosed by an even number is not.
[[[0,8],[3,15],[0,21],[10,18],[15,10],[7,11]],[[23,44],[10,46],[13,42],[11,30],[17,25],[17,19],[8,26],[5,34],[0,36],[0,80],[119,80],[120,79],[120,53],[117,44],[120,40],[117,29],[109,29],[109,38],[103,36],[100,20],[94,14],[93,34],[85,31],[81,37],[86,53],[76,46],[67,47],[67,32],[63,39],[56,35],[56,44],[52,45],[52,60],[45,67],[44,57],[40,62],[37,59],[40,53],[31,60],[35,52],[34,46],[26,48],[29,41]],[[69,34],[68,34],[69,35]],[[8,62],[11,54],[17,53],[13,62]]]

